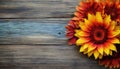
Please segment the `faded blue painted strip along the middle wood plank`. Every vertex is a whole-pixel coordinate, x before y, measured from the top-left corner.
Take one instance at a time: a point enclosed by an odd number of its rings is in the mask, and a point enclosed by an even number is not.
[[[65,37],[65,25],[66,21],[61,23],[1,21],[0,37],[44,34],[55,37]]]

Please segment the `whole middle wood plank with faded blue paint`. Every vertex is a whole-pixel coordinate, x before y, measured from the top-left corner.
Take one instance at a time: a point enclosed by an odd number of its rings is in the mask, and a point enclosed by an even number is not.
[[[1,19],[0,44],[66,44],[69,19]]]

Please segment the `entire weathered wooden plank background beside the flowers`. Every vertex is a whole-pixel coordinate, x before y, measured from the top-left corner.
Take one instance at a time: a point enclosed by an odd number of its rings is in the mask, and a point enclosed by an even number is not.
[[[105,69],[68,46],[79,0],[0,0],[0,69]]]

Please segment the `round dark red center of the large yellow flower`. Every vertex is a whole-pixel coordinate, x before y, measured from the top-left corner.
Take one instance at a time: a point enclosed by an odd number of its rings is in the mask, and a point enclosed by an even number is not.
[[[95,44],[103,44],[107,40],[107,32],[104,27],[93,28],[90,32],[91,41]]]

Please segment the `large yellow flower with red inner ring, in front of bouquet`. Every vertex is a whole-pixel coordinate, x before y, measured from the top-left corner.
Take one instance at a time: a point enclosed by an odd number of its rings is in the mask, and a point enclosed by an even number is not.
[[[76,45],[81,46],[80,52],[94,55],[95,59],[102,58],[105,55],[112,55],[117,52],[114,44],[120,43],[116,37],[120,34],[120,29],[116,28],[116,22],[112,21],[110,15],[102,17],[100,12],[88,14],[88,19],[79,23],[80,30],[75,30],[75,36],[78,37]]]

